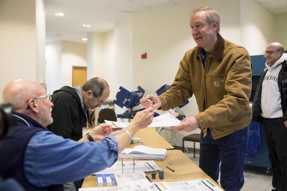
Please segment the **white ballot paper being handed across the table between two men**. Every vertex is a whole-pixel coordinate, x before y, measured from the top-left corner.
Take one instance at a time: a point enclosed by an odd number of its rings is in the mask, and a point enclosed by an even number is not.
[[[113,124],[114,125],[113,127],[123,127],[123,128],[128,127],[130,124],[127,122],[117,122],[107,120],[105,120],[105,122],[106,124]],[[172,127],[180,124],[180,122],[181,121],[179,121],[175,116],[167,112],[165,114],[153,118],[152,123],[148,127]]]

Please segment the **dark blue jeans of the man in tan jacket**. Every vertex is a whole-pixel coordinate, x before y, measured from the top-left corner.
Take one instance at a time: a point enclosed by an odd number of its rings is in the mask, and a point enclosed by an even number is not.
[[[220,165],[220,184],[226,191],[239,191],[244,184],[243,167],[248,144],[249,128],[213,140],[210,129],[203,137],[201,131],[199,167],[217,182]]]

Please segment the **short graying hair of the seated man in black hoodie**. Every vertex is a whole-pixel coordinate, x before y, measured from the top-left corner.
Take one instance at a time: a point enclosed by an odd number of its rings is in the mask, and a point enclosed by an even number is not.
[[[103,91],[109,88],[109,84],[102,78],[95,77],[91,78],[83,85],[83,91],[87,92],[91,90],[95,98],[102,96]]]

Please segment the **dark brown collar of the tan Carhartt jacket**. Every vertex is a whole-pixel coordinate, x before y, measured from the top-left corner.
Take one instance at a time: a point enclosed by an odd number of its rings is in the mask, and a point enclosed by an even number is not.
[[[224,51],[224,38],[222,38],[222,36],[218,33],[217,35],[217,40],[214,46],[213,51],[211,52],[211,57],[215,58],[216,60],[218,60],[219,62],[222,61],[222,57],[223,57],[223,51]],[[201,47],[199,47],[196,50],[196,56],[201,56]]]

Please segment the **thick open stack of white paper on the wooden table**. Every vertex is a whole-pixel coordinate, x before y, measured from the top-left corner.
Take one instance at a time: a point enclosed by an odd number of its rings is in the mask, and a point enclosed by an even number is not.
[[[138,145],[135,146],[133,149],[124,149],[123,152],[119,154],[119,158],[164,160],[166,155],[166,149],[157,149]]]

